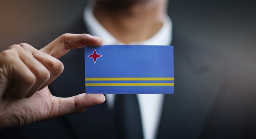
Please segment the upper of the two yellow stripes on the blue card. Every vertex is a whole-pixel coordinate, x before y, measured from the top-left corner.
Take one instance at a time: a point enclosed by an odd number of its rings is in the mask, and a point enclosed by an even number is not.
[[[144,78],[85,78],[85,81],[173,81],[173,77],[144,77]]]

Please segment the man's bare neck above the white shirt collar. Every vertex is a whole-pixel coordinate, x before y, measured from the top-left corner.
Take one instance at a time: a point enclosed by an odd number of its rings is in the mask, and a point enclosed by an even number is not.
[[[117,40],[129,44],[144,41],[161,28],[161,15],[165,12],[165,6],[159,1],[137,3],[126,9],[108,9],[105,5],[96,3],[93,12],[95,18]]]

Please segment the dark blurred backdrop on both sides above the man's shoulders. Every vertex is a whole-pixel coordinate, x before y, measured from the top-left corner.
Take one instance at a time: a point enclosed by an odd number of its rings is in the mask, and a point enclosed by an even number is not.
[[[87,0],[1,0],[0,51],[26,42],[40,49],[81,18]],[[256,60],[255,0],[170,0],[168,13],[176,33],[200,47],[231,58]],[[47,38],[45,36],[56,36]]]

